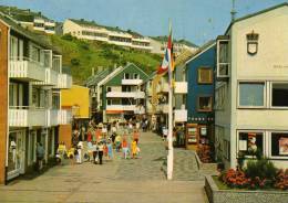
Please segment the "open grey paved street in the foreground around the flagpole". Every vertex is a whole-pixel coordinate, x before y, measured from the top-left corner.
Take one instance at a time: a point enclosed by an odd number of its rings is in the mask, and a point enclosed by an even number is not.
[[[161,138],[146,132],[140,143],[141,159],[123,160],[119,153],[103,165],[58,165],[0,186],[0,202],[206,202],[192,151],[175,149],[174,180],[166,181]]]

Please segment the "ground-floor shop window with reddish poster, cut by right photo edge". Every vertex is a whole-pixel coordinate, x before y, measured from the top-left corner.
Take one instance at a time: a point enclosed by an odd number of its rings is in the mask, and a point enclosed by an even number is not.
[[[288,157],[288,132],[271,133],[271,156]]]

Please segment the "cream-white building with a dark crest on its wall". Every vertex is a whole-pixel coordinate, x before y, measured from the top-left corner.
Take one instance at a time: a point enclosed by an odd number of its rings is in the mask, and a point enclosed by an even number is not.
[[[282,3],[235,20],[217,39],[215,147],[227,168],[255,151],[288,167],[287,22]]]

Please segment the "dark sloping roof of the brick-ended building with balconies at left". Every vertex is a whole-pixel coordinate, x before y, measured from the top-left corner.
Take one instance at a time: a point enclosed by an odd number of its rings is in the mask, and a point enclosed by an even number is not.
[[[2,20],[4,23],[9,24],[10,29],[14,32],[25,36],[27,39],[31,40],[32,42],[40,44],[43,47],[53,50],[54,52],[60,54],[60,51],[48,42],[48,38],[44,35],[35,34],[34,32],[31,32],[24,28],[22,28],[16,20],[11,19],[10,17],[6,15],[4,13],[0,12],[0,20]]]

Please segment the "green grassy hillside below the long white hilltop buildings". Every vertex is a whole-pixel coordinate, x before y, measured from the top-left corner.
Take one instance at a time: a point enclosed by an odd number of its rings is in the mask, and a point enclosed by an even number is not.
[[[50,41],[62,51],[63,65],[71,67],[73,82],[76,84],[82,84],[91,75],[92,67],[107,68],[114,64],[120,66],[132,62],[146,73],[152,73],[161,62],[161,56],[155,54],[101,42],[82,41],[71,35],[52,35]]]

